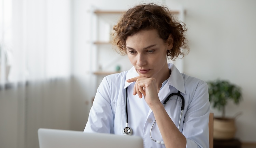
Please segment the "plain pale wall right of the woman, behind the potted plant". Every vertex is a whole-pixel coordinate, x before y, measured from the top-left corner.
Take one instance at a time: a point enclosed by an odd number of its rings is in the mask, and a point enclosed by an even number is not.
[[[256,1],[184,0],[191,52],[184,59],[184,71],[204,81],[226,79],[242,87],[240,105],[230,102],[227,116],[237,118],[236,136],[256,142],[256,54],[254,24]],[[220,115],[216,110],[215,115]]]

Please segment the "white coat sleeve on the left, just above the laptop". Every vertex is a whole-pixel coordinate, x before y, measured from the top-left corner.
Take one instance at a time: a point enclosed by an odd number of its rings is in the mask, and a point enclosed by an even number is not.
[[[111,88],[105,77],[97,89],[84,132],[113,133],[111,104]]]

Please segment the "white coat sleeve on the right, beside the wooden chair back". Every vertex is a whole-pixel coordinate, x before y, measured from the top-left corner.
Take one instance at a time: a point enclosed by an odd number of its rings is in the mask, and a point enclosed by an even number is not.
[[[187,138],[186,148],[209,147],[210,102],[207,83],[200,81],[190,94],[187,112],[184,117],[183,135]]]

